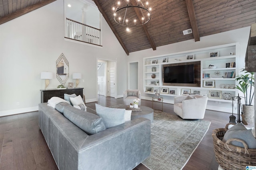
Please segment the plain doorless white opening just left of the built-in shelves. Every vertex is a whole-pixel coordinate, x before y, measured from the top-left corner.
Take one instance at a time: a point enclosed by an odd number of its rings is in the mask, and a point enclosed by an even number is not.
[[[139,89],[139,62],[129,62],[127,68],[127,88]]]

